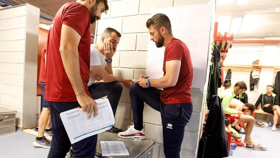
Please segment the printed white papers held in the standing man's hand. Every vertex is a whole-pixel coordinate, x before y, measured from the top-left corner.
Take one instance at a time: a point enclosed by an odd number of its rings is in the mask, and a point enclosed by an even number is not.
[[[60,113],[61,120],[71,144],[110,129],[115,123],[113,111],[108,99],[97,100],[98,115],[94,112],[87,119],[88,112],[81,108],[71,109]]]

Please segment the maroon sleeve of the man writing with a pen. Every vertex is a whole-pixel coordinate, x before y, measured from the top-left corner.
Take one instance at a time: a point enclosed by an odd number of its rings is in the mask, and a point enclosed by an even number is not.
[[[172,45],[168,45],[166,48],[166,62],[169,60],[180,60],[182,61],[184,54],[184,49],[182,45],[177,42],[172,43]]]

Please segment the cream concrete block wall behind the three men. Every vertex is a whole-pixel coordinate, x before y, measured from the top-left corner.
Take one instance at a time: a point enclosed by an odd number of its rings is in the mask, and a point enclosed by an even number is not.
[[[114,75],[124,79],[139,79],[140,75],[146,74],[149,40],[146,21],[151,17],[150,10],[152,8],[202,4],[208,3],[208,1],[209,0],[108,0],[110,9],[107,15],[102,14],[101,20],[98,20],[95,39],[98,43],[102,32],[107,27],[115,28],[122,34],[112,62]],[[206,93],[193,88],[191,94],[194,110],[190,122],[185,129],[181,156],[194,158],[205,113]],[[115,125],[118,128],[126,130],[127,126],[133,123],[132,117],[133,113],[131,111],[129,90],[124,87],[116,112]],[[155,139],[157,142],[157,145],[154,147],[153,157],[163,158],[163,136],[160,113],[145,104],[143,121],[146,137]]]

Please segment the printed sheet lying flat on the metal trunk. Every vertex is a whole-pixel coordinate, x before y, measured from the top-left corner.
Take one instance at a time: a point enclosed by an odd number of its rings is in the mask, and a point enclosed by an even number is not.
[[[129,155],[124,142],[100,141],[102,156],[124,156]]]

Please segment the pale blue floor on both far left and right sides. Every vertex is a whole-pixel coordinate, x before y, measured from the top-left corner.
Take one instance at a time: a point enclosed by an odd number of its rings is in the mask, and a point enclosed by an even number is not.
[[[46,158],[49,149],[33,147],[35,136],[21,132],[0,137],[1,158]],[[242,135],[243,138],[245,135]],[[268,145],[267,151],[256,151],[252,148],[237,147],[229,158],[279,158],[280,157],[280,128],[273,132],[270,127],[254,126],[252,139]]]

